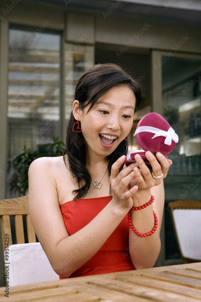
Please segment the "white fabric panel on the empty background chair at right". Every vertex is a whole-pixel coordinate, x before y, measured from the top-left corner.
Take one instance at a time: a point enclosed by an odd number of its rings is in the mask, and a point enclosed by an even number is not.
[[[201,260],[201,210],[173,210],[179,248],[185,258]]]

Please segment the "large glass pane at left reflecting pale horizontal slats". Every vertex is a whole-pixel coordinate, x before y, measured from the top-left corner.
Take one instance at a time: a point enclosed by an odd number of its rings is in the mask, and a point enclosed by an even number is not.
[[[23,168],[16,164],[19,172],[14,165],[16,156],[26,150],[35,159],[34,152],[53,143],[53,136],[61,137],[61,71],[60,64],[54,63],[60,52],[60,32],[38,33],[19,26],[9,29],[7,198],[28,191],[24,191],[28,184],[25,173],[31,162],[23,163]]]

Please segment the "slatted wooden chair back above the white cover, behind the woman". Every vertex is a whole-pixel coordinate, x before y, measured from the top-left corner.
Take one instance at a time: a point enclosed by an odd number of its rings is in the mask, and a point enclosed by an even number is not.
[[[31,222],[31,218],[28,210],[28,195],[18,198],[12,198],[12,199],[3,199],[0,201],[3,253],[5,251],[5,234],[9,235],[8,246],[12,245],[11,222],[10,222],[11,216],[15,217],[14,218],[15,234],[16,234],[17,244],[25,243],[24,226],[23,226],[23,218],[22,218],[23,216],[26,216],[26,221],[27,221],[28,243],[36,242],[36,233],[33,228],[33,224]]]

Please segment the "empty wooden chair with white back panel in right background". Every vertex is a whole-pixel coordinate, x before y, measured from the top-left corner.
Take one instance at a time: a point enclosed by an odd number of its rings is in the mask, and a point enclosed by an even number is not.
[[[194,258],[191,259],[190,257],[188,258],[184,255],[184,250],[182,250],[182,248],[180,246],[181,245],[181,239],[180,239],[181,237],[180,237],[180,234],[179,234],[180,231],[182,231],[182,230],[181,230],[180,226],[177,225],[177,221],[175,221],[175,215],[174,215],[175,214],[174,210],[179,210],[179,209],[181,209],[181,210],[184,210],[184,209],[186,209],[186,210],[201,210],[201,201],[193,200],[193,199],[184,199],[184,200],[181,200],[181,201],[170,201],[168,203],[168,207],[170,209],[170,214],[171,214],[171,220],[172,220],[172,224],[173,224],[173,228],[174,228],[174,233],[175,233],[175,236],[176,236],[176,239],[177,239],[177,245],[178,245],[178,247],[180,247],[179,252],[180,252],[181,259],[182,259],[183,263],[186,264],[186,263],[201,262],[201,250],[199,251],[200,252],[200,257],[199,258],[200,259],[194,259]],[[173,212],[174,212],[174,214],[173,214]],[[198,215],[201,214],[201,211],[199,211],[199,212],[198,212]],[[183,215],[181,211],[180,211],[180,213],[181,213],[181,215]],[[178,214],[178,211],[177,211],[177,214]],[[190,216],[185,214],[185,217],[187,218],[187,217],[190,217]],[[196,221],[190,222],[190,220],[188,218],[187,219],[186,218],[183,218],[183,223],[186,224],[186,226],[188,226],[188,223],[190,223],[190,225],[191,225],[193,223],[197,223],[197,222],[201,221],[201,215],[198,216],[199,221],[196,220]],[[185,221],[184,221],[184,219],[185,219]],[[199,224],[199,226],[201,226],[201,224]],[[193,234],[194,234],[195,231],[198,233],[198,230],[194,229]],[[197,240],[197,242],[199,242],[201,244],[201,235],[200,234],[198,236],[199,238],[196,238],[196,240]],[[187,240],[188,240],[188,236],[187,236]],[[186,242],[188,242],[188,241],[186,241]],[[193,245],[191,247],[193,248]]]

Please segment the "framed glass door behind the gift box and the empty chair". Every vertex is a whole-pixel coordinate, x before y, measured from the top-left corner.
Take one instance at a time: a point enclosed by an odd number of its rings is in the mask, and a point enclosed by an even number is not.
[[[173,164],[164,179],[163,245],[158,261],[158,265],[177,264],[180,256],[168,202],[201,200],[201,56],[152,51],[152,111],[161,114],[179,136],[168,155]]]

